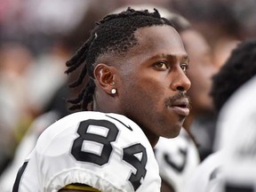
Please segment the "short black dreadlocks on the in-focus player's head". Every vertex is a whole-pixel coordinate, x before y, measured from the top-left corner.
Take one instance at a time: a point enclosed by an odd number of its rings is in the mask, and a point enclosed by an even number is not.
[[[84,64],[80,75],[73,83],[69,84],[70,88],[82,84],[86,75],[90,77],[77,98],[68,100],[72,104],[70,110],[88,110],[88,105],[93,100],[95,90],[93,69],[101,55],[108,53],[120,55],[129,51],[134,45],[138,44],[138,40],[134,36],[134,32],[138,28],[172,26],[169,20],[161,18],[159,12],[156,9],[154,10],[155,12],[148,12],[148,10],[135,11],[128,8],[125,12],[109,14],[103,20],[96,22],[96,27],[92,29],[89,39],[66,63],[68,67],[67,74]]]

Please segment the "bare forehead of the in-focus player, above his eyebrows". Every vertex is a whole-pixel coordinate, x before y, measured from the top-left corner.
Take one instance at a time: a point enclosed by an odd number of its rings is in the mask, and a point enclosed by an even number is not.
[[[135,31],[135,37],[140,52],[187,55],[180,35],[171,26],[139,28]]]

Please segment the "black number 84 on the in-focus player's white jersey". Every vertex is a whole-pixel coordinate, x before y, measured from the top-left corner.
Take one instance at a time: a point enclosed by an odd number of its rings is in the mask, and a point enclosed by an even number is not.
[[[88,132],[90,125],[102,126],[108,129],[107,136]],[[89,119],[79,124],[77,133],[79,134],[79,137],[73,142],[73,146],[71,148],[72,156],[74,156],[77,161],[90,162],[98,165],[107,164],[113,150],[111,142],[116,140],[118,134],[116,125],[108,122],[107,120]],[[97,155],[91,152],[83,151],[82,147],[84,140],[91,140],[102,144],[103,148],[101,150],[101,154]],[[145,168],[148,160],[146,148],[144,148],[140,143],[137,143],[130,147],[124,148],[123,150],[123,160],[128,164],[131,164],[136,169],[135,174],[131,173],[129,181],[132,183],[134,190],[137,190],[137,188],[140,188],[141,178],[144,178],[147,172]],[[141,160],[135,156],[135,154],[139,153],[141,153]]]

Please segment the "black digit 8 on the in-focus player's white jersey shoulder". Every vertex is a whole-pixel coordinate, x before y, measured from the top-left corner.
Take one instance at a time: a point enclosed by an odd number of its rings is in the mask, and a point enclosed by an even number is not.
[[[102,126],[108,129],[107,136],[105,137],[99,134],[87,132],[89,125]],[[111,155],[111,152],[113,149],[110,142],[116,140],[116,136],[118,133],[118,129],[116,128],[116,125],[106,120],[89,119],[79,124],[77,133],[79,134],[79,137],[76,138],[76,140],[74,140],[74,143],[71,149],[71,154],[76,158],[76,160],[82,161],[82,162],[91,162],[93,164],[99,164],[99,165],[107,164],[109,156]],[[102,144],[103,148],[102,148],[101,154],[97,155],[94,153],[83,151],[82,147],[83,147],[84,140],[92,140]]]

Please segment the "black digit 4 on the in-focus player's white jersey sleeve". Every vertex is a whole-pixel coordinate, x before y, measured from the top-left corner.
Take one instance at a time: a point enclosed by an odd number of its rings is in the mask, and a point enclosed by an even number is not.
[[[141,160],[139,160],[135,154],[141,153]],[[132,164],[132,166],[136,169],[136,173],[132,173],[129,180],[132,183],[134,190],[140,187],[141,178],[146,175],[146,164],[147,164],[147,152],[146,148],[144,148],[140,143],[134,144],[128,148],[124,148],[124,156],[123,159],[128,164]]]

